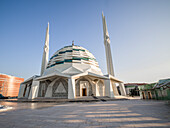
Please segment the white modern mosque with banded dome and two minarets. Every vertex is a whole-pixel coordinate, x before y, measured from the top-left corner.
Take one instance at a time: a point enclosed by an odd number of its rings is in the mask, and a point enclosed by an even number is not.
[[[114,77],[110,39],[105,16],[102,14],[107,75],[103,75],[96,58],[87,49],[74,45],[56,51],[49,59],[49,23],[46,31],[41,74],[25,80],[20,85],[18,98],[34,99],[65,98],[85,96],[126,95],[122,81]]]

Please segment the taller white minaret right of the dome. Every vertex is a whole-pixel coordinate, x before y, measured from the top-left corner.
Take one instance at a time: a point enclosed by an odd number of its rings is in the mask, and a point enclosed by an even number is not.
[[[105,45],[106,61],[107,61],[107,72],[108,74],[114,76],[112,54],[110,49],[110,38],[107,30],[106,19],[105,16],[103,15],[103,12],[102,12],[102,21],[103,21],[104,45]]]

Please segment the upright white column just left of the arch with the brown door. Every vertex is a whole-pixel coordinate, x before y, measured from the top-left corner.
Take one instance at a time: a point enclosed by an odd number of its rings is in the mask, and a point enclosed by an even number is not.
[[[68,99],[75,98],[75,79],[68,79]]]

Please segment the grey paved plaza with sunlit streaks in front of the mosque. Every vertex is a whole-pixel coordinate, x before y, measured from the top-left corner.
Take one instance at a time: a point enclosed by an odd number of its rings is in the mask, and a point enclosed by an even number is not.
[[[170,127],[170,103],[117,100],[92,103],[15,103],[0,111],[1,128]]]

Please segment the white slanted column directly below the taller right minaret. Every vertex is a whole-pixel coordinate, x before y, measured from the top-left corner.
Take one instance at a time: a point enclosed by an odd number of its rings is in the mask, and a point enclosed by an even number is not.
[[[105,96],[109,96],[109,97],[113,98],[114,94],[113,94],[111,80],[110,79],[104,80],[104,84],[105,84]]]

